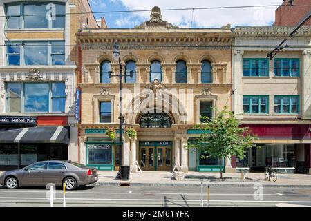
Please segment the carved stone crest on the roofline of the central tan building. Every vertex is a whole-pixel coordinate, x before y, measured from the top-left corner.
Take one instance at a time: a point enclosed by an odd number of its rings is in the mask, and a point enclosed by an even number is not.
[[[161,30],[161,29],[176,29],[177,26],[173,26],[171,23],[162,20],[161,10],[158,6],[155,6],[151,10],[150,20],[142,23],[140,26],[135,26],[139,29],[148,30]]]

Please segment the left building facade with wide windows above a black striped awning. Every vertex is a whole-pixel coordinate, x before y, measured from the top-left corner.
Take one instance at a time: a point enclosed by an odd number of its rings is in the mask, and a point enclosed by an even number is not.
[[[0,168],[78,160],[75,33],[88,1],[0,2]]]

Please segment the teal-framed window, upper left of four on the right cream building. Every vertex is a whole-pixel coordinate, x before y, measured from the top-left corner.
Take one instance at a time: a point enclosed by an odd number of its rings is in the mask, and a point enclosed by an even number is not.
[[[244,77],[267,77],[269,76],[268,59],[243,59]]]

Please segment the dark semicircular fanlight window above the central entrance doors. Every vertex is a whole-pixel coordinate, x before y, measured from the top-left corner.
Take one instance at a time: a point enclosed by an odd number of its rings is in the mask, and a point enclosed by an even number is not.
[[[140,118],[142,128],[171,128],[171,117],[164,113],[147,113]]]

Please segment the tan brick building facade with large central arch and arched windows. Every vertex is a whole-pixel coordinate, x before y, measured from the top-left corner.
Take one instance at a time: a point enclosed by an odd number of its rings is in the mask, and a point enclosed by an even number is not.
[[[124,165],[142,170],[220,171],[218,159],[202,159],[185,148],[204,131],[194,129],[200,115],[213,117],[211,107],[232,108],[232,39],[229,26],[181,29],[162,20],[155,7],[151,19],[132,29],[82,29],[80,46],[79,160],[111,171],[119,166],[119,143],[106,135],[119,126],[119,63],[113,59],[120,45],[122,116],[125,128],[137,139],[123,135]],[[118,133],[117,133],[118,135]],[[231,171],[230,159],[222,170]]]

